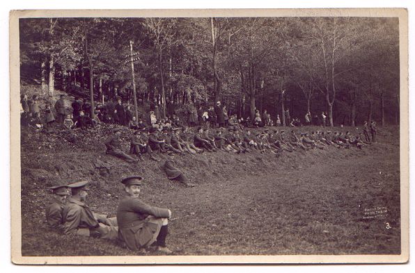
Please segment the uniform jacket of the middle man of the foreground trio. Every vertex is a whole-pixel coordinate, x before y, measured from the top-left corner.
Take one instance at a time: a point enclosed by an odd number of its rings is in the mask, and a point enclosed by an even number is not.
[[[63,208],[62,217],[65,234],[74,234],[79,228],[93,229],[99,226],[91,208],[72,197]]]

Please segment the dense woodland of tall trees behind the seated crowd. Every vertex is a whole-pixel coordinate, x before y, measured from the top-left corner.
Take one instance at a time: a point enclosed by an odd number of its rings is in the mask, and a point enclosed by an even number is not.
[[[397,18],[20,19],[22,84],[145,107],[214,105],[333,125],[399,122]],[[132,66],[132,63],[134,64]],[[132,73],[132,67],[134,73]],[[133,81],[134,78],[134,81]],[[93,108],[92,108],[93,109]],[[93,115],[93,113],[92,113]]]

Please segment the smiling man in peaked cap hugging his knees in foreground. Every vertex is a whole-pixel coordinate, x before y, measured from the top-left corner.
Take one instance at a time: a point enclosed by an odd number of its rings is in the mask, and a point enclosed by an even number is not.
[[[146,251],[146,247],[152,245],[164,254],[171,254],[166,247],[171,210],[150,206],[139,199],[143,185],[141,176],[127,177],[121,183],[127,197],[120,201],[117,209],[120,239],[132,250]]]

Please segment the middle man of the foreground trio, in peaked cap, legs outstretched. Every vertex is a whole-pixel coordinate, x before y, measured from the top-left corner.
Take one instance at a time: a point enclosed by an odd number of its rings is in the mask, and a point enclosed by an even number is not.
[[[88,195],[88,181],[68,185],[72,197],[63,208],[63,230],[66,235],[86,235],[109,240],[118,239],[116,219],[93,213],[84,202]]]

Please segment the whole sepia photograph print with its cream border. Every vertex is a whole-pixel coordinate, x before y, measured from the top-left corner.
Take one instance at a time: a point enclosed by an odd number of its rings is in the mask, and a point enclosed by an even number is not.
[[[405,9],[12,11],[13,262],[407,262],[407,40]]]

